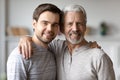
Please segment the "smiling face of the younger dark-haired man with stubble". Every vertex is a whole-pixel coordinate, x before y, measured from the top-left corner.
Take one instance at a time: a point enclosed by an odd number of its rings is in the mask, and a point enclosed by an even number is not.
[[[40,14],[38,21],[33,21],[36,37],[42,42],[51,42],[58,33],[59,18],[59,14],[50,11]]]

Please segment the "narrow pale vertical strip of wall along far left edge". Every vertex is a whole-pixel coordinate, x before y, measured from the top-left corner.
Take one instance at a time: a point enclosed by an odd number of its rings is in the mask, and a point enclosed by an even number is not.
[[[5,0],[0,0],[0,80],[5,77]]]

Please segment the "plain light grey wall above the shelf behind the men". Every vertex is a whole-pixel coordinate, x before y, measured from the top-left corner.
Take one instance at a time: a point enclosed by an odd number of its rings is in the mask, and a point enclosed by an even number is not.
[[[9,0],[8,26],[26,26],[32,31],[33,10],[45,2],[61,9],[68,4],[80,4],[86,9],[89,26],[99,30],[100,23],[105,21],[112,30],[111,35],[120,36],[120,0]]]

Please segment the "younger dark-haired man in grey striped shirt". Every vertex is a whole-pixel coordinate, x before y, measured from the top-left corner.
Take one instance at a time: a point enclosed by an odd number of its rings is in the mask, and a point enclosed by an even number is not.
[[[33,13],[32,49],[33,56],[26,60],[18,47],[10,54],[7,62],[7,80],[56,80],[56,63],[48,50],[57,35],[61,10],[53,4],[41,4]]]

